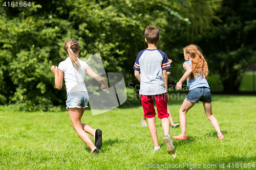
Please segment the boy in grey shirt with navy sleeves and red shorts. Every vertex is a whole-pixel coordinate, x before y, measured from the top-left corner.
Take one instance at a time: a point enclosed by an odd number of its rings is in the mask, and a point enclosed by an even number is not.
[[[147,117],[148,129],[155,146],[154,152],[160,151],[157,138],[157,129],[155,125],[156,111],[154,109],[154,100],[157,106],[158,118],[161,119],[164,131],[163,141],[166,144],[169,154],[175,153],[172,139],[169,136],[169,114],[167,113],[167,74],[166,69],[170,68],[167,55],[157,49],[160,41],[159,30],[154,26],[147,26],[145,30],[145,42],[147,48],[138,53],[134,64],[134,75],[140,82],[140,98],[144,111],[144,117]]]

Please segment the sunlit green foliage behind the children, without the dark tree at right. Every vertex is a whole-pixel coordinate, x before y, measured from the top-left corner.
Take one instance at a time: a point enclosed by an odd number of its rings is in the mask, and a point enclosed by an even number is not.
[[[63,46],[70,38],[79,42],[80,56],[100,53],[106,71],[120,72],[128,84],[137,82],[132,68],[137,53],[147,47],[146,26],[160,29],[163,41],[158,48],[172,58],[173,51],[181,52],[180,47],[169,48],[177,43],[176,36],[190,26],[200,32],[202,24],[211,23],[204,23],[207,18],[196,23],[207,11],[190,9],[193,1],[189,0],[56,0],[34,5],[10,17],[0,9],[0,100],[23,110],[53,110],[65,105],[66,89],[56,90],[50,66],[66,59]],[[190,25],[192,21],[195,26]]]

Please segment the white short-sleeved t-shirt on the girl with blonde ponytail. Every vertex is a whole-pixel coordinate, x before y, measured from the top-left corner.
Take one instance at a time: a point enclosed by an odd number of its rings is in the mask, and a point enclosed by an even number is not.
[[[63,71],[67,94],[76,91],[87,91],[86,84],[84,84],[84,73],[88,67],[85,61],[79,60],[81,65],[79,71],[75,69],[70,57],[59,63],[58,69]]]

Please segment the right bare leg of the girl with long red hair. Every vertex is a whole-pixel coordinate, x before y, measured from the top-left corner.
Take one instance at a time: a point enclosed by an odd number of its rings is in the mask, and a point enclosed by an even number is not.
[[[214,126],[214,129],[216,130],[218,137],[222,136],[218,120],[212,114],[211,102],[209,102],[209,103],[203,102],[203,106],[204,106],[205,114],[206,114],[207,118],[210,120],[212,126]]]

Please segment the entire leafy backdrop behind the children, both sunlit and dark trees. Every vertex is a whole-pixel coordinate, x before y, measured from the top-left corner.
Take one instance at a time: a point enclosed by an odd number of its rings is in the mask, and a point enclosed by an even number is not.
[[[120,72],[126,85],[138,81],[133,64],[146,48],[144,30],[160,30],[158,48],[174,62],[169,84],[183,74],[182,49],[202,47],[209,81],[238,92],[248,65],[256,62],[256,1],[34,1],[13,16],[0,9],[0,104],[18,110],[59,111],[66,89],[54,87],[50,66],[66,59],[65,41],[74,38],[80,56],[100,53],[106,72]],[[213,84],[212,86],[215,86]],[[14,105],[13,105],[14,104]]]

